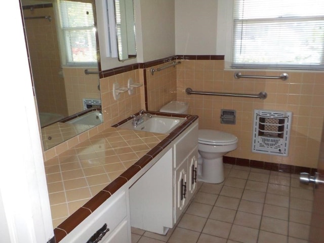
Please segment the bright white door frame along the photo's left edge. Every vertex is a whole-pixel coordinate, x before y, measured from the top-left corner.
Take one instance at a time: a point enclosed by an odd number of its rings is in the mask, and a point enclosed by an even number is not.
[[[0,28],[10,33],[0,39],[1,97],[17,116],[0,120],[0,241],[47,242],[54,233],[19,1],[6,4]]]

